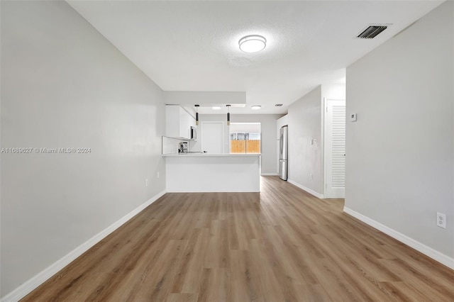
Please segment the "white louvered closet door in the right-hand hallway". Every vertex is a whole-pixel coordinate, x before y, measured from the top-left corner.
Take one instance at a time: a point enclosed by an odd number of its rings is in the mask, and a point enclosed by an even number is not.
[[[345,101],[328,100],[326,112],[326,198],[345,197]]]

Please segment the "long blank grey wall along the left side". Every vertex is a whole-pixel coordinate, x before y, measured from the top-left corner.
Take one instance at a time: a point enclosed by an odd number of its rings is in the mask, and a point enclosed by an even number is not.
[[[162,90],[67,3],[1,1],[1,147],[91,148],[1,154],[1,296],[164,190],[164,133]]]

